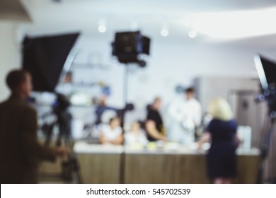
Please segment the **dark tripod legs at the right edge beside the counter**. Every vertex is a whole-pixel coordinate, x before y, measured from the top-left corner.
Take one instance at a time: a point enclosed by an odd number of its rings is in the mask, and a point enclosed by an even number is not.
[[[275,177],[275,156],[274,156],[274,137],[273,137],[273,127],[275,127],[275,120],[276,120],[276,112],[271,111],[268,119],[268,132],[265,132],[265,135],[263,137],[263,141],[260,145],[260,163],[258,167],[258,179],[257,183],[261,184],[263,182],[268,182],[271,184],[276,183],[276,177]],[[275,134],[274,134],[275,135]],[[264,169],[265,169],[265,160],[268,158],[268,154],[270,151],[271,158],[271,164],[269,166],[270,171],[270,177],[268,177],[267,180],[264,180]]]

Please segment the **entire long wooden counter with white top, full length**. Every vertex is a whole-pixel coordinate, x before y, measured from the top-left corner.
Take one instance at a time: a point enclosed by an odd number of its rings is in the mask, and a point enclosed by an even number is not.
[[[206,151],[177,149],[128,148],[76,142],[74,152],[79,161],[82,182],[87,184],[205,184]],[[259,151],[238,150],[238,177],[234,183],[255,183]],[[43,163],[40,170],[60,173],[60,162]],[[52,181],[60,182],[60,181]],[[62,181],[61,181],[62,182]]]

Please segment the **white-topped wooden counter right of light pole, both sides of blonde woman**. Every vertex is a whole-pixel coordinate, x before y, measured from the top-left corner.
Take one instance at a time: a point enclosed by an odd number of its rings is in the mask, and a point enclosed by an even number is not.
[[[234,183],[255,183],[258,151],[238,152],[238,177]],[[197,151],[134,151],[126,149],[125,183],[205,184],[206,155]]]

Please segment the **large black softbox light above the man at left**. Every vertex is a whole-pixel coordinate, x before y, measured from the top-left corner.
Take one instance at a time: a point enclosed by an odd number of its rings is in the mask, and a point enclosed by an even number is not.
[[[54,92],[79,33],[25,37],[23,69],[33,77],[34,91]]]

